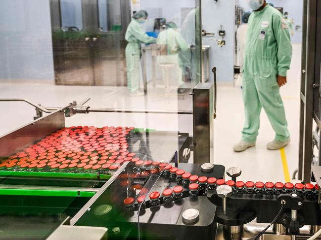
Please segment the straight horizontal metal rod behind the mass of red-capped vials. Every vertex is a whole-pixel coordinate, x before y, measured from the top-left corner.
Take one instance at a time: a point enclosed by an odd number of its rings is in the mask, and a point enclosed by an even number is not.
[[[89,108],[89,112],[122,112],[122,113],[154,113],[154,114],[186,114],[192,115],[192,111],[182,110],[137,110],[137,109],[113,109],[113,108]]]

